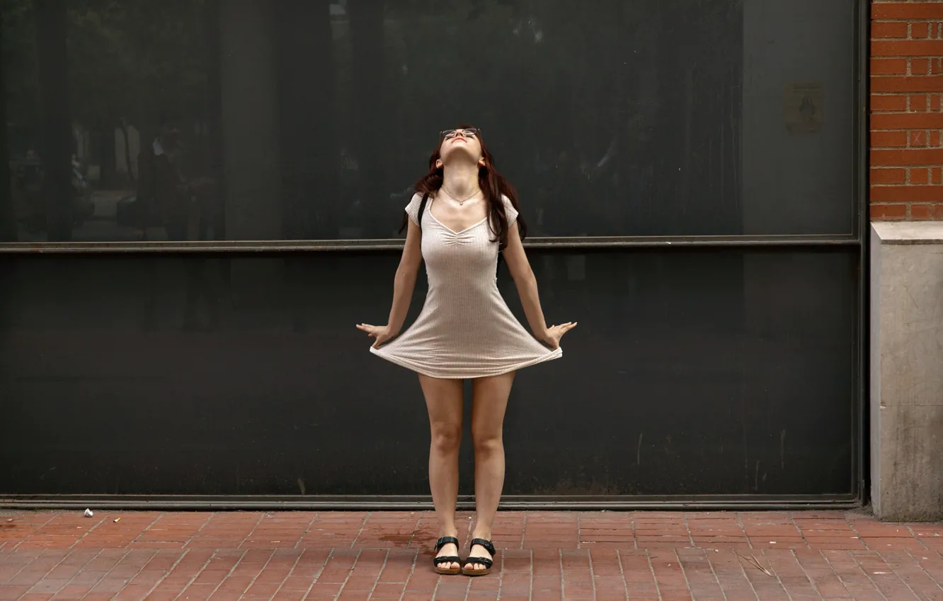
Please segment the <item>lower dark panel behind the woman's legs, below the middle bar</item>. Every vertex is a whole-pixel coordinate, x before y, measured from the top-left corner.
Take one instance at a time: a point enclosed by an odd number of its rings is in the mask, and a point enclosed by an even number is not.
[[[531,254],[580,325],[515,384],[507,494],[852,492],[852,252]],[[396,261],[3,256],[0,494],[426,494],[418,382],[354,328]]]

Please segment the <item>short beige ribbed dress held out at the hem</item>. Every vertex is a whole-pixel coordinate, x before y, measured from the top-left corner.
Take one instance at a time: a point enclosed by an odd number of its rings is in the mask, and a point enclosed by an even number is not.
[[[508,225],[518,212],[505,198]],[[406,214],[416,223],[422,196],[413,196]],[[404,333],[371,352],[432,378],[498,376],[557,359],[524,330],[498,291],[498,242],[482,219],[454,232],[432,215],[430,198],[422,212],[422,259],[429,292],[422,312]]]

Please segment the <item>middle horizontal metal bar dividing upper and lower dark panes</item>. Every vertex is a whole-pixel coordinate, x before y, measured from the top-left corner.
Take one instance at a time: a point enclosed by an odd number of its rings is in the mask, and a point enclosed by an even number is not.
[[[400,251],[401,238],[365,240],[268,240],[199,242],[6,242],[8,254],[119,254],[164,252],[352,252]],[[860,246],[855,236],[540,236],[527,238],[531,249],[620,249],[703,247]]]

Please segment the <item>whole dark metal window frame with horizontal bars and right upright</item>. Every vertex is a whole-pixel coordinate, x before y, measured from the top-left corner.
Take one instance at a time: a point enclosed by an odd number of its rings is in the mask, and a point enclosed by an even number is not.
[[[848,235],[797,236],[545,236],[532,237],[525,247],[553,250],[605,249],[857,249],[858,290],[855,324],[855,379],[852,382],[852,493],[850,495],[668,495],[639,496],[505,496],[504,509],[568,510],[799,510],[852,509],[869,502],[869,35],[870,2],[854,0],[853,195],[857,213]],[[393,252],[399,238],[357,240],[272,240],[201,242],[50,242],[0,243],[0,255],[24,254],[246,254],[296,252]],[[238,496],[238,495],[3,495],[0,509],[81,508],[201,510],[425,510],[427,496]],[[460,509],[472,499],[459,498]]]

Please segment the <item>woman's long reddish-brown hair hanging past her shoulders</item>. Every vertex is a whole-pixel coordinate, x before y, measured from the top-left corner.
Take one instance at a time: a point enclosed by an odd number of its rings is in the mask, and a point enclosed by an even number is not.
[[[459,129],[470,127],[472,125],[460,125]],[[444,141],[444,139],[438,140],[436,151],[429,157],[429,172],[413,185],[413,189],[421,196],[427,195],[432,198],[438,192],[438,188],[442,187],[442,169],[436,167],[436,161],[441,157],[442,142]],[[498,249],[504,251],[507,246],[507,215],[505,213],[505,203],[501,200],[501,197],[502,195],[506,196],[511,201],[511,205],[520,213],[518,191],[505,179],[504,175],[495,169],[494,155],[485,146],[485,140],[481,138],[481,133],[478,134],[478,141],[481,142],[481,154],[485,158],[485,165],[478,167],[478,187],[481,187],[485,202],[488,203],[488,227],[491,233],[494,234],[494,240],[498,242]],[[404,215],[400,232],[405,230],[406,219],[407,217]],[[527,225],[520,215],[518,215],[517,224],[522,240],[527,236]]]

